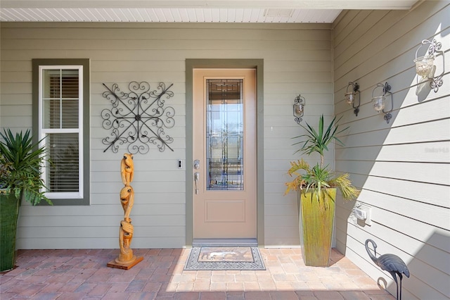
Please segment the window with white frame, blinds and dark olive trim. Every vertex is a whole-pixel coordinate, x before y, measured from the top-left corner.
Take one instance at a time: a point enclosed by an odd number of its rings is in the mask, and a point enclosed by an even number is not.
[[[89,204],[89,60],[33,60],[33,125],[49,162],[46,196],[56,205]]]

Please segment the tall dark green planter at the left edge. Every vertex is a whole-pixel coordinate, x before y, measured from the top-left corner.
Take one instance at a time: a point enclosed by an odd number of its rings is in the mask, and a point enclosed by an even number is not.
[[[0,194],[0,272],[14,268],[18,215],[19,199],[13,193]]]

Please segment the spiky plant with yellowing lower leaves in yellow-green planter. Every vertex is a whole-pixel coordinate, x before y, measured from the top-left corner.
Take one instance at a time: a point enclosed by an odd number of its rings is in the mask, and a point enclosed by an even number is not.
[[[290,190],[304,189],[304,192],[311,191],[313,194],[316,194],[316,199],[319,199],[319,195],[322,190],[325,190],[326,192],[327,188],[335,187],[340,190],[342,197],[345,200],[356,199],[359,195],[359,190],[352,185],[352,182],[349,180],[348,173],[336,176],[331,170],[329,170],[328,165],[323,167],[323,153],[324,151],[328,151],[328,145],[330,142],[335,141],[342,146],[344,145],[340,139],[338,139],[337,135],[339,135],[340,132],[347,130],[348,127],[339,130],[339,125],[337,124],[339,120],[336,121],[336,117],[333,118],[326,131],[324,131],[323,126],[323,115],[319,118],[318,130],[315,130],[314,127],[311,127],[309,124],[307,124],[307,127],[302,125],[307,133],[294,137],[294,139],[304,139],[301,142],[295,143],[295,145],[302,145],[300,149],[295,151],[295,153],[301,152],[302,154],[309,155],[316,152],[320,155],[320,163],[317,163],[311,168],[309,163],[304,161],[303,158],[301,160],[291,162],[288,174],[291,177],[294,177],[294,179],[285,184],[287,186],[285,192],[286,194],[290,192]]]

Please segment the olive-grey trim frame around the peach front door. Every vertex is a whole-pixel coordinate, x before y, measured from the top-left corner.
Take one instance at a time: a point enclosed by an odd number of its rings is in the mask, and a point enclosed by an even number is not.
[[[186,59],[186,246],[193,245],[193,69],[255,68],[257,83],[257,242],[264,247],[264,60]],[[259,138],[258,138],[259,137]]]

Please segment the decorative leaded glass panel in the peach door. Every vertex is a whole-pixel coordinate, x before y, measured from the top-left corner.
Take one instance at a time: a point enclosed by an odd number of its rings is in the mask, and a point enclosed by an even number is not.
[[[207,190],[243,190],[243,80],[206,81]]]

